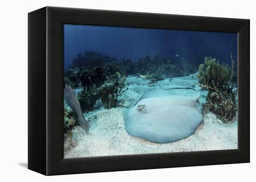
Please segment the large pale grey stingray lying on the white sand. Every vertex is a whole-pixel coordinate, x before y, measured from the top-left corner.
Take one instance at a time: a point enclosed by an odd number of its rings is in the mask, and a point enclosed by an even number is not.
[[[192,135],[202,121],[196,96],[174,95],[155,88],[124,111],[128,134],[155,143],[170,143]]]

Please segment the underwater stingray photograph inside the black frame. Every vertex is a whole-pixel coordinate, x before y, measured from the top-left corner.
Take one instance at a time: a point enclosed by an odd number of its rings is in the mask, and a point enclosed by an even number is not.
[[[237,149],[237,34],[64,24],[64,157]]]

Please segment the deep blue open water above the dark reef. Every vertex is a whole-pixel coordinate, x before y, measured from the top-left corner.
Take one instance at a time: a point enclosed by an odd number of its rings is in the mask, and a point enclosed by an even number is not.
[[[86,51],[98,51],[117,60],[142,56],[175,56],[184,63],[203,63],[205,56],[230,63],[229,43],[237,61],[237,34],[92,25],[64,25],[64,65]]]

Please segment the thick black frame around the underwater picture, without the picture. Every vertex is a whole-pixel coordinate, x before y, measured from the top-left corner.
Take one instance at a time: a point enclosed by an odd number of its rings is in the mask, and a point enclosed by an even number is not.
[[[63,24],[238,34],[238,149],[63,159]],[[44,7],[28,13],[28,169],[61,175],[249,163],[249,19]]]

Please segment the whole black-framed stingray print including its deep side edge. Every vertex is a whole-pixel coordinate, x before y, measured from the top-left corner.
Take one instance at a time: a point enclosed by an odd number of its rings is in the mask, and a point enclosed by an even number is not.
[[[249,162],[249,20],[28,13],[28,169]]]

